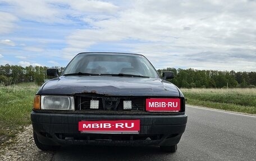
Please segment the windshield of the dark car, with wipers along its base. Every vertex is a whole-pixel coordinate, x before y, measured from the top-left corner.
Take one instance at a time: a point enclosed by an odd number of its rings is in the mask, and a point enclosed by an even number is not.
[[[136,54],[80,53],[67,65],[62,75],[137,75],[158,77],[147,58]],[[125,76],[123,75],[123,76]]]

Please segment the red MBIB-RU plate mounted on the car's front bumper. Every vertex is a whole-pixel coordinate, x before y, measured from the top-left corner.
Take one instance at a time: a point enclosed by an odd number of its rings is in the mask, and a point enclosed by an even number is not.
[[[79,121],[78,127],[84,133],[138,134],[140,120]]]

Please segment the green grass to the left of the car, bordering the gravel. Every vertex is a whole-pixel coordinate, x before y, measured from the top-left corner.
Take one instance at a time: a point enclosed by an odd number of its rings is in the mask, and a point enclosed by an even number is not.
[[[30,112],[38,88],[34,83],[0,86],[0,145],[31,123]]]

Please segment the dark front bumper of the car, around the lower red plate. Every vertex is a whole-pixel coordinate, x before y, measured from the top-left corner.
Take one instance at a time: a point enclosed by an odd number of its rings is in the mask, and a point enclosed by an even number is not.
[[[82,120],[140,119],[139,134],[82,134]],[[31,112],[33,130],[42,144],[176,145],[185,131],[188,116],[116,115]]]

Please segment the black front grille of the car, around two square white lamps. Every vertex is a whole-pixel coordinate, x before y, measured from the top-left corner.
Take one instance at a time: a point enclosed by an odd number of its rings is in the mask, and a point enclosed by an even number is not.
[[[90,109],[90,100],[99,100],[99,109]],[[132,109],[124,110],[124,100],[131,100]],[[145,111],[144,97],[76,96],[76,110],[84,111]]]

